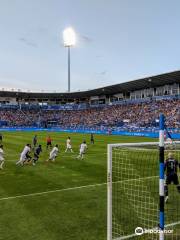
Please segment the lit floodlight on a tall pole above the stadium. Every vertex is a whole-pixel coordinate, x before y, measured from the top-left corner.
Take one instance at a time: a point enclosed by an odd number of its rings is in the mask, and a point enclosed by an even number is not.
[[[70,49],[76,44],[76,34],[73,28],[68,27],[63,31],[64,47],[68,49],[68,92],[71,91],[71,54]]]

